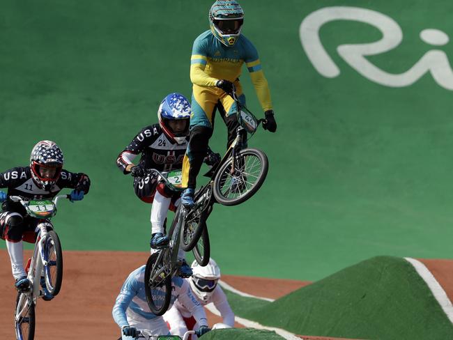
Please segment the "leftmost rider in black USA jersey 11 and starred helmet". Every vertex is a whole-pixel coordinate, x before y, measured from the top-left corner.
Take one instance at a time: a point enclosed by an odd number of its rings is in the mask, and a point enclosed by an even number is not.
[[[0,238],[6,240],[15,286],[18,291],[27,291],[30,281],[24,270],[23,243],[36,241],[38,224],[45,223],[52,230],[48,220],[26,215],[19,202],[8,201],[8,196],[22,196],[25,199],[53,199],[63,188],[72,188],[70,199],[80,201],[88,194],[90,179],[85,173],[72,173],[63,169],[63,153],[53,141],[40,141],[31,150],[27,167],[14,167],[0,173],[0,201],[4,201],[0,213]],[[48,297],[50,298],[50,297]],[[46,300],[46,299],[44,299]]]

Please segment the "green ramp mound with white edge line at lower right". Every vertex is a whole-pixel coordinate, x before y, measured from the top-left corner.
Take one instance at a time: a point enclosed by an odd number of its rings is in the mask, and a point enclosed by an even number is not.
[[[452,323],[404,258],[362,261],[275,302],[227,295],[237,316],[295,334],[453,339]]]

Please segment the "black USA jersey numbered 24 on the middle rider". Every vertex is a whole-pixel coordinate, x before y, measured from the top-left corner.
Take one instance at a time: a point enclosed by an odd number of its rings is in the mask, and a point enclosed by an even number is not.
[[[116,164],[123,173],[128,173],[125,170],[128,164],[131,164],[137,155],[141,155],[139,164],[144,169],[158,171],[181,169],[188,142],[188,137],[183,144],[171,142],[158,123],[149,125],[144,127],[121,151]]]

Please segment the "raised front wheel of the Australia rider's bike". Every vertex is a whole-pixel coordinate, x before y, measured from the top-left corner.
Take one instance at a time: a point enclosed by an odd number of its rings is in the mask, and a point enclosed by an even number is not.
[[[247,201],[261,187],[268,174],[268,157],[255,148],[240,150],[222,164],[214,178],[213,194],[224,206]]]

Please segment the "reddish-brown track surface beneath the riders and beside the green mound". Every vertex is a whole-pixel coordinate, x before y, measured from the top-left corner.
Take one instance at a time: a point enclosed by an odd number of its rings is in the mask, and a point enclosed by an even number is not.
[[[25,258],[31,252],[25,252]],[[118,339],[119,329],[112,318],[112,307],[125,278],[146,262],[147,253],[131,252],[64,252],[63,286],[51,302],[38,300],[36,307],[36,340]],[[453,261],[422,260],[453,297]],[[6,250],[0,250],[0,339],[15,339],[13,310],[15,288]],[[235,277],[222,279],[239,291],[276,299],[309,282]],[[220,318],[207,311],[210,324]],[[243,327],[236,325],[237,327]],[[303,337],[328,340],[325,337]]]

